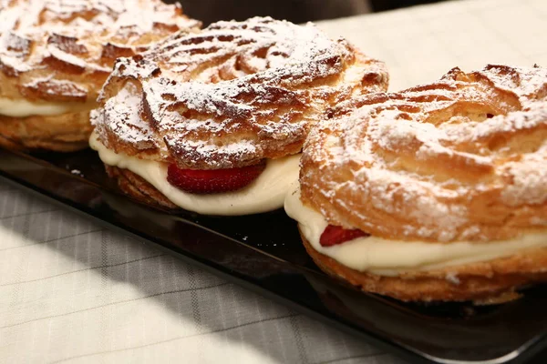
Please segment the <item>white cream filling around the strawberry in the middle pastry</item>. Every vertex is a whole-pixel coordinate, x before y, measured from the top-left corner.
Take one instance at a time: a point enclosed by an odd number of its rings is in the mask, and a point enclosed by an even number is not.
[[[203,215],[249,215],[283,207],[289,187],[298,179],[300,155],[268,160],[263,173],[243,189],[194,195],[172,186],[167,181],[165,163],[117,154],[103,146],[95,133],[89,138],[89,146],[98,151],[103,163],[129,169],[156,187],[173,204]]]

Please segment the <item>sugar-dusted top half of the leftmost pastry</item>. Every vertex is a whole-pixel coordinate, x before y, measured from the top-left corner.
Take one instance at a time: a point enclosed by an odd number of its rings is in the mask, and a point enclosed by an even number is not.
[[[199,25],[160,0],[0,0],[0,98],[93,102],[117,57]]]

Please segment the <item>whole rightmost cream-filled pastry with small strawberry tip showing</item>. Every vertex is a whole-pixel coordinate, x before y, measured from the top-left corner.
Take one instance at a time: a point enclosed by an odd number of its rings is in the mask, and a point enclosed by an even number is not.
[[[547,280],[547,70],[458,68],[335,107],[285,199],[325,272],[403,300]]]

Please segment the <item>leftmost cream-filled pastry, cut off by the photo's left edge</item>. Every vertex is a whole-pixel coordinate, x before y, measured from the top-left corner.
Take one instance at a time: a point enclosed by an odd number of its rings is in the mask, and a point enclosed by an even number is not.
[[[160,0],[0,0],[0,146],[88,147],[116,58],[199,25]]]

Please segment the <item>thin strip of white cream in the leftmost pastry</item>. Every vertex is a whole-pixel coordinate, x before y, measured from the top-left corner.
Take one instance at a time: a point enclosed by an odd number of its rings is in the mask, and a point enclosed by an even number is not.
[[[10,117],[57,116],[90,110],[95,103],[76,102],[31,102],[24,98],[12,99],[0,97],[0,115]]]

